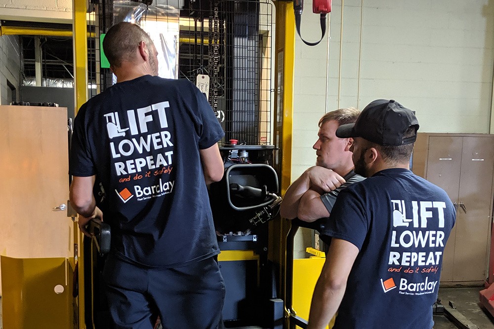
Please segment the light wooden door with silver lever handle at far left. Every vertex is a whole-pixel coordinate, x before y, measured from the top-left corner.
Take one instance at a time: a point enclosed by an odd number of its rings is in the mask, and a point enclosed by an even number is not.
[[[67,109],[0,106],[0,154],[0,253],[72,256]]]

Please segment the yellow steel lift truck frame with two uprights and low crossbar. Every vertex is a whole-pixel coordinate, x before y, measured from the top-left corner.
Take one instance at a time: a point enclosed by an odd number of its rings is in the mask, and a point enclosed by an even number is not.
[[[274,143],[280,150],[281,191],[285,194],[291,183],[291,146],[292,146],[292,116],[294,89],[294,54],[295,54],[295,21],[292,1],[275,1],[276,6],[276,58],[275,58],[275,118]],[[87,29],[85,0],[73,0],[74,10],[74,67],[75,67],[75,112],[87,101]],[[280,291],[285,300],[285,271],[286,271],[286,237],[290,228],[285,219],[270,222],[270,259],[280,264]],[[75,230],[78,232],[78,230]],[[82,235],[79,241],[79,328],[85,329],[84,322],[84,267],[82,253]],[[255,256],[255,255],[254,255]],[[251,254],[234,254],[223,252],[218,260],[255,259]],[[288,311],[286,310],[288,316]]]

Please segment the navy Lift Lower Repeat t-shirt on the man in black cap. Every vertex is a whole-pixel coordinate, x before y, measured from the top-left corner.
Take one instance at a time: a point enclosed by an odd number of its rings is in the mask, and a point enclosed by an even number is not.
[[[322,234],[359,248],[334,328],[431,328],[455,222],[440,187],[393,168],[342,190]]]

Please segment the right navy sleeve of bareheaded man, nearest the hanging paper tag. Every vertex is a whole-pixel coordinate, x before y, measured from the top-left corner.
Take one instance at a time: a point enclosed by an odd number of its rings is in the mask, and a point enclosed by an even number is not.
[[[201,129],[199,132],[199,148],[206,149],[213,146],[225,135],[223,128],[218,122],[213,109],[207,102],[206,96],[194,86],[194,95],[199,106],[201,118]]]

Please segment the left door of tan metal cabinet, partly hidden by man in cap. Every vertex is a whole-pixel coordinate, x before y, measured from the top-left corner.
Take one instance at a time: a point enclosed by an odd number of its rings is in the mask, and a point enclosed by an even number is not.
[[[453,136],[429,137],[426,179],[442,187],[453,202],[458,198],[462,139]],[[451,231],[444,250],[441,282],[453,281],[456,227]]]

